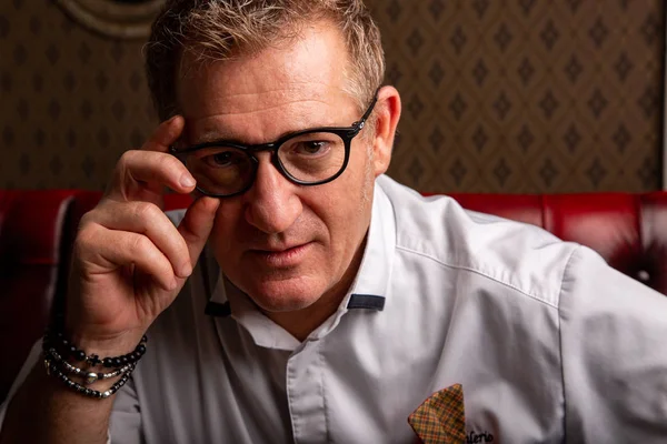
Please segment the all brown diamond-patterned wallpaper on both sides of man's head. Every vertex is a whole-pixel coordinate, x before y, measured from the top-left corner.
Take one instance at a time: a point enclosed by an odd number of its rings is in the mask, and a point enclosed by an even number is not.
[[[372,0],[404,99],[390,174],[428,191],[660,188],[661,0]],[[0,2],[0,188],[102,189],[156,118],[141,41]]]

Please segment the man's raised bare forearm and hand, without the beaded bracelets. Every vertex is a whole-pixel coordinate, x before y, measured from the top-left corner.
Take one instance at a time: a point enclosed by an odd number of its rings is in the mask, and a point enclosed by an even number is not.
[[[185,165],[166,153],[182,128],[182,118],[163,122],[142,150],[123,154],[104,198],[81,221],[64,334],[88,355],[135,350],[185,284],[212,228],[215,199],[197,200],[178,229],[160,209],[165,186],[181,193],[193,189]],[[192,182],[183,185],[181,178]],[[107,442],[116,395],[99,400],[76,393],[48,376],[42,361],[9,402],[0,444]],[[103,392],[113,382],[98,381],[90,389]]]

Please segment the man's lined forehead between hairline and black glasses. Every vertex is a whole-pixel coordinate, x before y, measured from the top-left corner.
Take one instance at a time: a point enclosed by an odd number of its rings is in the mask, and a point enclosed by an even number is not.
[[[297,38],[250,56],[197,62],[186,54],[178,104],[186,120],[340,105],[342,98],[349,99],[347,62],[340,31],[327,23],[305,27]]]

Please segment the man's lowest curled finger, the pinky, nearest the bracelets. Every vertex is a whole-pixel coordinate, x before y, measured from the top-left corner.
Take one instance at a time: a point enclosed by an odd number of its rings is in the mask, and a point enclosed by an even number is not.
[[[178,286],[171,263],[146,235],[89,224],[79,233],[76,250],[77,256],[92,275],[135,265],[166,291],[173,291]]]

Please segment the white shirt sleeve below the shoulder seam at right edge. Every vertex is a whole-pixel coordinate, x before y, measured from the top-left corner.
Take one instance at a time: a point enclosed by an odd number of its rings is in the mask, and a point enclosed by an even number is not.
[[[667,297],[580,246],[559,302],[567,443],[664,443]]]

